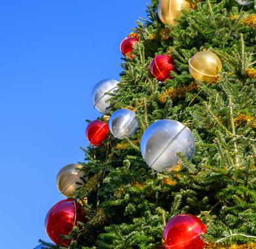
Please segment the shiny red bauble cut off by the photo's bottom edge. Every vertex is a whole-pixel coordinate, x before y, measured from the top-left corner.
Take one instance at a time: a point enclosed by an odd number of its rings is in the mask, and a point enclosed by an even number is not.
[[[207,226],[192,214],[179,214],[168,221],[163,231],[165,248],[202,249],[205,242],[200,234],[207,233]]]

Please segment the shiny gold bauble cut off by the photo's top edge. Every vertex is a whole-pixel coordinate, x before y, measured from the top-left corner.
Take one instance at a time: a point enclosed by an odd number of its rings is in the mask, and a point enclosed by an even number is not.
[[[181,17],[182,10],[189,12],[190,3],[185,0],[160,0],[158,16],[163,24],[175,25],[176,19]]]

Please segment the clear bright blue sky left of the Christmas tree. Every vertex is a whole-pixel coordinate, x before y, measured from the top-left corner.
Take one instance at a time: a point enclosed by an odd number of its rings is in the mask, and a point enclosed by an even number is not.
[[[0,7],[2,249],[49,240],[44,219],[64,199],[58,170],[83,161],[91,90],[119,79],[120,41],[150,0],[9,0]]]

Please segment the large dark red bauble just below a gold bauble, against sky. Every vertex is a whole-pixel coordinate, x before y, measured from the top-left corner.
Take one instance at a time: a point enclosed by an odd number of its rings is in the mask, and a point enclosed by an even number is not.
[[[70,246],[71,240],[62,240],[61,235],[68,235],[77,221],[85,222],[83,208],[71,199],[58,202],[45,217],[45,229],[54,243]]]

